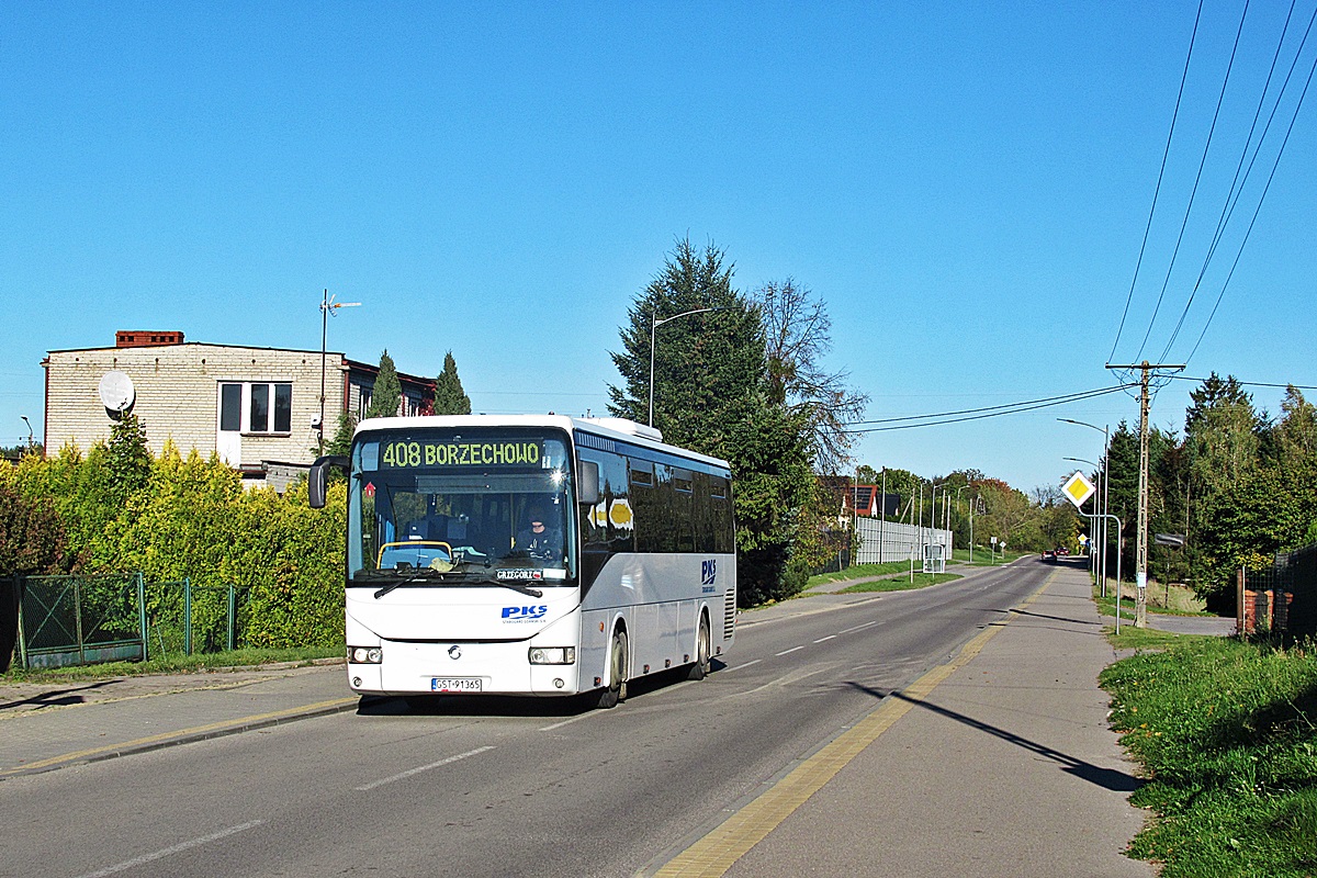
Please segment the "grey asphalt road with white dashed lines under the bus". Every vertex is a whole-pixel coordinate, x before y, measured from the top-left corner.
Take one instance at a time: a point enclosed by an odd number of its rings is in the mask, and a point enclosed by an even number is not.
[[[370,702],[12,778],[0,875],[635,874],[944,662],[1048,573],[1015,565],[827,612],[747,613],[710,678],[633,684],[614,711]]]

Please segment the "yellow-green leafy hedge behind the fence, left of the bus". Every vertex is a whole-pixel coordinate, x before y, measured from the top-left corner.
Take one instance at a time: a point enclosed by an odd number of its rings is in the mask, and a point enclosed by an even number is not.
[[[58,515],[61,570],[140,570],[148,615],[157,619],[180,612],[180,588],[170,583],[191,579],[194,629],[202,632],[223,627],[234,584],[245,594],[246,645],[342,644],[344,484],[331,488],[327,508],[311,509],[304,484],[283,496],[244,490],[217,457],[184,458],[166,445],[149,478],[125,495],[115,459],[113,446],[97,445],[87,455],[65,449],[0,473],[0,487]]]

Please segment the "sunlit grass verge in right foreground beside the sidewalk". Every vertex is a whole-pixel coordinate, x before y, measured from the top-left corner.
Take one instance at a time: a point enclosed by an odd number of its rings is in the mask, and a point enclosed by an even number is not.
[[[1130,854],[1164,878],[1317,874],[1317,649],[1126,628],[1112,725],[1154,811]]]

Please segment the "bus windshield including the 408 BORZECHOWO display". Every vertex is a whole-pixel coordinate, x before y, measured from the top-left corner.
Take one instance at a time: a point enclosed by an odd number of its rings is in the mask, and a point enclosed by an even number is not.
[[[365,433],[352,453],[348,578],[568,584],[572,508],[562,434]]]

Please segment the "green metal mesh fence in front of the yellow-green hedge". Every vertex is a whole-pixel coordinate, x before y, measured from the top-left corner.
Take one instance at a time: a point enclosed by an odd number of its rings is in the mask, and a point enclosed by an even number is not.
[[[245,646],[250,588],[146,583],[140,573],[18,581],[22,667],[145,661]]]

